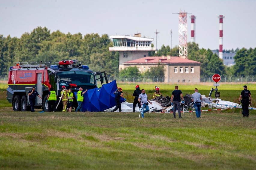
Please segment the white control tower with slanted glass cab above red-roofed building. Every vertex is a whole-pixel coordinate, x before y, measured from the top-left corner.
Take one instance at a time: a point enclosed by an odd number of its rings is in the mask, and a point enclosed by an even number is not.
[[[141,37],[141,34],[111,35],[113,47],[109,51],[119,51],[119,69],[124,69],[123,63],[148,56],[149,51],[156,51],[151,47],[153,38]]]

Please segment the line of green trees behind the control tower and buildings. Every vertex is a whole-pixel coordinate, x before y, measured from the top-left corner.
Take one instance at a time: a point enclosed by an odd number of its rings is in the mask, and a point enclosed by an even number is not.
[[[106,71],[108,76],[151,76],[163,75],[164,67],[161,64],[141,74],[136,67],[129,67],[119,72],[119,53],[108,50],[113,43],[107,34],[81,33],[64,34],[54,31],[50,33],[46,27],[37,27],[31,33],[24,33],[20,38],[0,35],[0,75],[7,75],[8,68],[15,62],[46,61],[54,64],[60,60],[77,59],[88,65],[93,71]],[[188,59],[201,63],[200,74],[220,74],[246,76],[256,73],[256,48],[236,49],[235,65],[227,67],[217,54],[210,49],[199,48],[196,43],[188,43]],[[232,50],[231,50],[232,52]],[[149,56],[178,56],[178,46],[170,49],[162,46],[157,53],[151,51]]]

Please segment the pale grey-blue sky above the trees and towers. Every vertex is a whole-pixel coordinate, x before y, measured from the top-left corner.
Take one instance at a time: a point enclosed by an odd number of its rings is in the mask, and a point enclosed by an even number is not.
[[[187,42],[196,16],[199,48],[219,48],[219,15],[223,49],[256,47],[256,0],[0,0],[0,34],[20,38],[38,26],[50,33],[97,33],[154,38],[157,48],[178,45],[178,14],[187,12]],[[172,30],[172,39],[171,33]]]

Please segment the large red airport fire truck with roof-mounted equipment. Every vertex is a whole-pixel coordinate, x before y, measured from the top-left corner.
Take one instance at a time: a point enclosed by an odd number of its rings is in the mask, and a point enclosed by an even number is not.
[[[105,80],[105,81],[104,81]],[[60,99],[61,87],[71,88],[72,92],[77,92],[79,87],[83,89],[93,89],[98,87],[98,83],[107,84],[108,79],[105,72],[93,72],[87,65],[82,65],[77,60],[62,60],[55,65],[50,62],[16,62],[9,68],[7,100],[12,103],[14,111],[30,111],[28,92],[35,87],[42,99],[36,98],[35,108],[43,108],[48,111],[47,96],[50,87],[53,87],[57,97]],[[98,87],[99,88],[99,87]],[[76,98],[73,105],[78,106]],[[59,104],[62,108],[62,102]]]

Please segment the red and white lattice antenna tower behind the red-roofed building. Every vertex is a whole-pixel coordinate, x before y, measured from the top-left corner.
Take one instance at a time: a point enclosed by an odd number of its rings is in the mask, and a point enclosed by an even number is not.
[[[179,57],[187,58],[187,12],[179,14]]]

